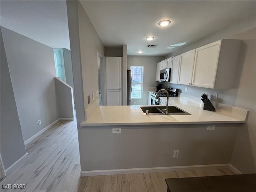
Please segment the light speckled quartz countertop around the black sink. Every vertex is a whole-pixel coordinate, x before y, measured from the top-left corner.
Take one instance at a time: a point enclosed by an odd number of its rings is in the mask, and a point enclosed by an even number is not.
[[[166,97],[162,97],[166,100]],[[190,113],[190,115],[143,115],[140,106],[98,106],[81,126],[121,126],[121,125],[167,125],[167,124],[220,124],[244,123],[248,110],[213,103],[216,111],[203,109],[200,98],[190,96],[169,97],[169,105]]]

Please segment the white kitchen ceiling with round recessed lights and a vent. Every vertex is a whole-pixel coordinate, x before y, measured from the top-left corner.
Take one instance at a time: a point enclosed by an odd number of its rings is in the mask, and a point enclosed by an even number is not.
[[[103,44],[127,44],[128,55],[167,55],[256,12],[255,1],[80,1]],[[170,20],[170,26],[158,25]],[[147,36],[154,36],[146,41]],[[146,48],[148,44],[158,45]]]

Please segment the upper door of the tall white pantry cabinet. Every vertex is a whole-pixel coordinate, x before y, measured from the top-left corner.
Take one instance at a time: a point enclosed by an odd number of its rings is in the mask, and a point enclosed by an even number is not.
[[[106,89],[121,89],[122,57],[105,57]]]

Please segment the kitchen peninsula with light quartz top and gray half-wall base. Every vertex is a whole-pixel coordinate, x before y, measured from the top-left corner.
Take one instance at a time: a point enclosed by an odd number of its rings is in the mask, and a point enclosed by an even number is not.
[[[218,104],[211,112],[194,98],[169,99],[191,115],[143,115],[139,106],[97,107],[78,129],[81,176],[230,168],[237,130],[248,111]],[[207,130],[209,125],[215,130]],[[120,132],[112,133],[116,128]]]

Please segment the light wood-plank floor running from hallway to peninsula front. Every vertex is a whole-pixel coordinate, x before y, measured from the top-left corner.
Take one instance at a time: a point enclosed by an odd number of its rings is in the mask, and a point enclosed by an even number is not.
[[[166,192],[166,178],[234,174],[229,169],[80,177],[76,121],[61,121],[26,146],[28,155],[1,180],[2,192]],[[12,189],[5,189],[7,184]],[[13,189],[25,184],[25,189]]]

